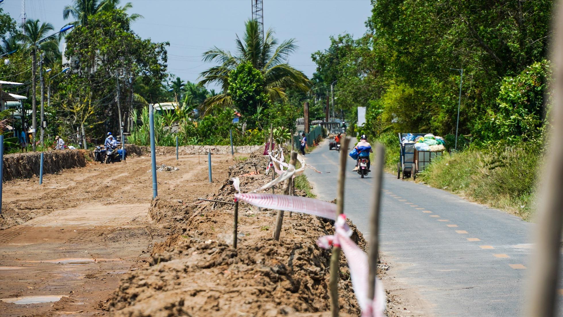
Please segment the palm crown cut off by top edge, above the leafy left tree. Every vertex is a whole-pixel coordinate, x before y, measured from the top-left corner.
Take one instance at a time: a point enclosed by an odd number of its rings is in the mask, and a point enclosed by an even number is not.
[[[120,0],[74,0],[72,6],[68,5],[62,9],[62,18],[66,20],[69,16],[73,16],[76,21],[70,24],[87,25],[88,17],[98,12],[111,10],[126,12],[133,7],[131,2],[127,2],[123,7],[118,7],[120,2]],[[131,14],[129,21],[135,21],[142,17],[140,14]]]

